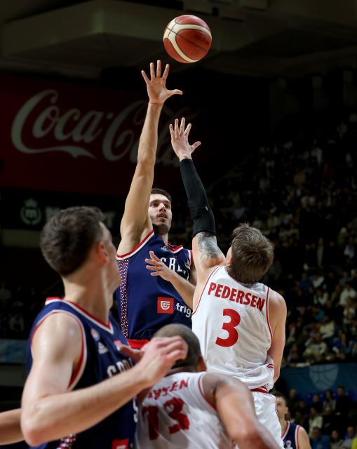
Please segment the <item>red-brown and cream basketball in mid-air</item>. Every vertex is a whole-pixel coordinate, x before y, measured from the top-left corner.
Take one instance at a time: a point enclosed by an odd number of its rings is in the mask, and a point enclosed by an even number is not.
[[[211,44],[210,27],[196,15],[179,15],[168,23],[163,33],[168,54],[185,64],[204,58]]]

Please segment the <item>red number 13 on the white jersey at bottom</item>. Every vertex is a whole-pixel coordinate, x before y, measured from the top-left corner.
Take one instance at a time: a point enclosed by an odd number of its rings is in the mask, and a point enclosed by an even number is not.
[[[170,426],[168,431],[170,434],[175,434],[180,430],[189,429],[189,418],[181,413],[182,407],[184,406],[184,401],[180,398],[172,398],[163,404],[166,412],[173,420],[177,421],[177,424]],[[159,419],[158,413],[159,408],[156,406],[147,406],[142,408],[142,415],[147,413],[149,421],[149,438],[150,440],[156,440],[159,436]]]

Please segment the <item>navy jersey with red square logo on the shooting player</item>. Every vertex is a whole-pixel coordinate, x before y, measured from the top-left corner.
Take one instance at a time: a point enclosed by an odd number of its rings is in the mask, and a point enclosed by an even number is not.
[[[116,290],[123,334],[130,340],[150,340],[156,330],[166,324],[181,323],[191,328],[191,309],[173,285],[151,276],[145,258],[154,251],[170,269],[189,279],[191,251],[181,246],[166,245],[159,234],[149,232],[145,239],[130,251],[117,256],[121,286]]]

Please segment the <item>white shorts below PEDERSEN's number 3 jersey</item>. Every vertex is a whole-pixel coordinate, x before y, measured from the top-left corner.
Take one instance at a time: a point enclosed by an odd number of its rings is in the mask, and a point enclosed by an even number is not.
[[[284,444],[281,439],[281,425],[276,413],[275,396],[269,393],[260,393],[259,391],[252,391],[252,395],[258,420],[269,430],[283,449]]]

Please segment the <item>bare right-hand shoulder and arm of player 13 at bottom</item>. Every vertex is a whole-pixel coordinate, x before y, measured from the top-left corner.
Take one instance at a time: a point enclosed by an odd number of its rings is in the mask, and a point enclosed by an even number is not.
[[[240,449],[278,449],[280,446],[255,415],[252,394],[232,376],[207,373],[202,380],[208,401],[217,410],[229,436]]]

